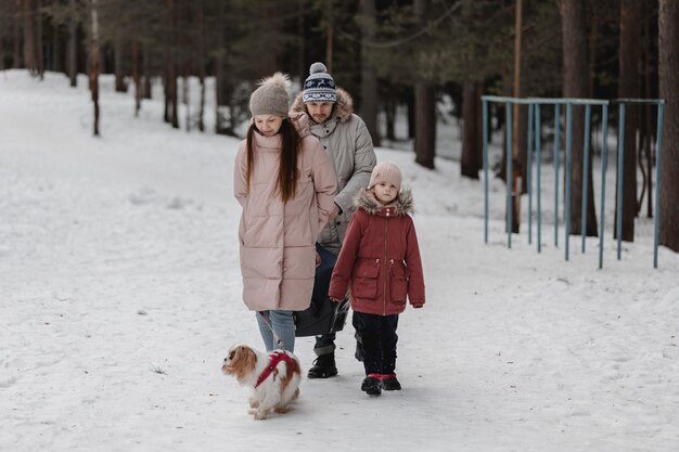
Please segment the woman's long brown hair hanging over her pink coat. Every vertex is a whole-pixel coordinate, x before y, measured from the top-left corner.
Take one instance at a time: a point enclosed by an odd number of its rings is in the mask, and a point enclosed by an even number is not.
[[[253,122],[247,129],[247,175],[245,175],[247,190],[249,190],[249,178],[255,168],[254,133],[258,132],[257,127]],[[283,203],[287,203],[295,197],[297,189],[297,178],[299,176],[297,158],[302,148],[302,137],[297,133],[297,129],[295,129],[290,118],[283,119],[279,133],[281,134],[282,148],[277,191],[281,194]]]

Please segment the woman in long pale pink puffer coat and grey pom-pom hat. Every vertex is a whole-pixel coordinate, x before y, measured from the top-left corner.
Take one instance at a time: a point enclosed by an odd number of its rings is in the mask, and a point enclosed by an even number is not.
[[[265,79],[253,92],[253,115],[239,147],[233,192],[243,207],[239,227],[243,301],[257,315],[267,350],[276,335],[293,351],[293,311],[309,307],[316,238],[333,207],[332,162],[308,130],[306,115],[289,117],[287,77]],[[266,320],[266,321],[265,321]]]

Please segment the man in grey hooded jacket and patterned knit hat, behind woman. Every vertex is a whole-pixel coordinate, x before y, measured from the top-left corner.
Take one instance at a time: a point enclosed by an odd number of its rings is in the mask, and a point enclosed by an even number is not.
[[[311,133],[321,141],[333,162],[337,177],[335,207],[318,243],[336,256],[355,210],[354,197],[361,188],[368,186],[376,157],[366,122],[354,114],[351,96],[335,86],[323,63],[313,63],[309,73],[292,109],[309,115]],[[318,358],[308,377],[337,375],[335,334],[317,336],[313,351]],[[357,346],[357,358],[359,353]]]

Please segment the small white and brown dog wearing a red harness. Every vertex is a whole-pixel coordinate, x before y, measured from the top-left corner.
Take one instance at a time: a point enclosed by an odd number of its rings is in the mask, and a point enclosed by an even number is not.
[[[241,386],[252,389],[249,413],[255,419],[266,419],[270,410],[285,413],[299,397],[302,366],[293,353],[274,350],[265,353],[252,347],[231,347],[221,372],[233,375]]]

